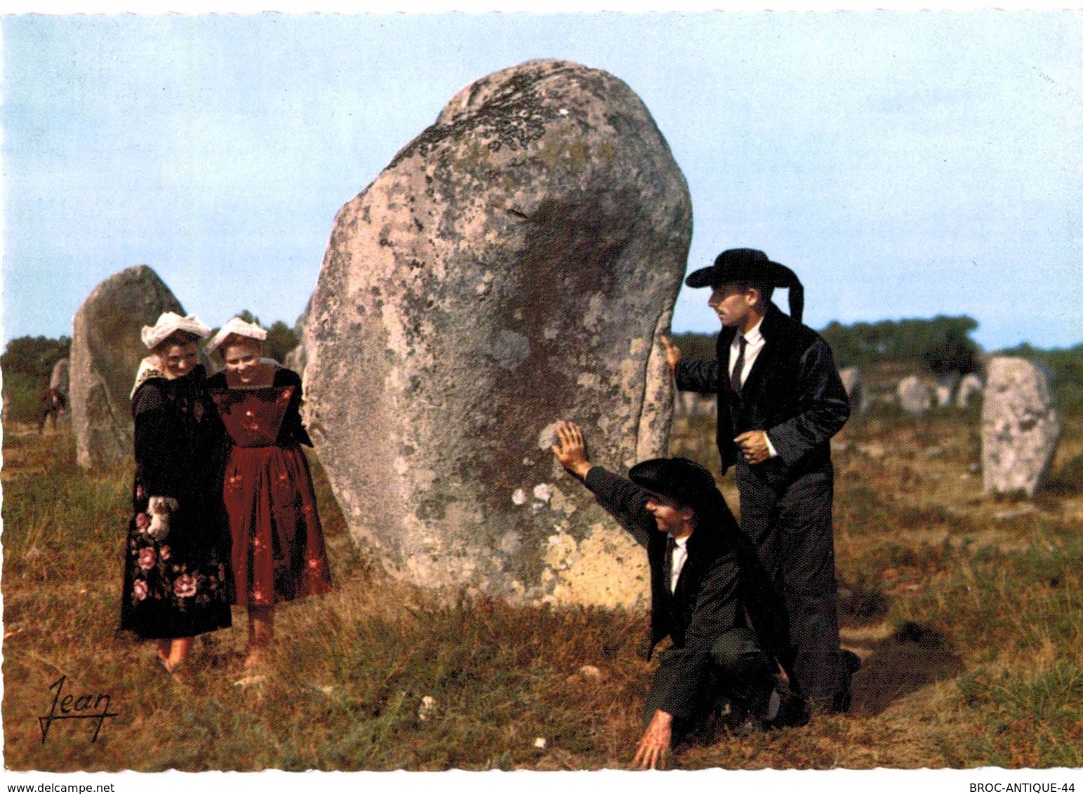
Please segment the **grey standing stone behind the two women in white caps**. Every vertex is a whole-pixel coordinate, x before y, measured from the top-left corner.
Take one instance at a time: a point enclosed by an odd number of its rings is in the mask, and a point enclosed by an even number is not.
[[[102,281],[71,322],[71,425],[83,468],[108,465],[132,451],[131,389],[146,356],[140,339],[162,312],[184,314],[173,293],[146,265]]]

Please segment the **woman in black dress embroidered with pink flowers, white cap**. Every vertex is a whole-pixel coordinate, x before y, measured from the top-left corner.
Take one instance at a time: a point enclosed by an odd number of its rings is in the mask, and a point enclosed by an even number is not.
[[[198,363],[197,342],[209,333],[194,315],[172,312],[144,327],[151,355],[132,389],[135,481],[120,631],[158,640],[170,673],[196,634],[231,624],[224,508],[213,485],[222,431]]]

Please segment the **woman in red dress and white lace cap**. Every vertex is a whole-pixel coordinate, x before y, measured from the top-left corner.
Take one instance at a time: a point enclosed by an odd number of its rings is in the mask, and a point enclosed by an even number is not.
[[[262,328],[235,317],[208,345],[225,362],[207,386],[231,444],[223,499],[236,603],[248,608],[246,667],[260,664],[271,649],[275,604],[331,586],[312,476],[300,448],[312,446],[301,423],[301,379],[262,357],[264,339]]]

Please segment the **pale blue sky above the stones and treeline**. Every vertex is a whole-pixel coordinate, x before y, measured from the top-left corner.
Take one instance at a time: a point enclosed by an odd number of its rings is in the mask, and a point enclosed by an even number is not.
[[[140,263],[210,325],[292,322],[335,213],[456,91],[560,57],[654,115],[690,268],[761,248],[817,328],[967,314],[987,348],[1083,341],[1079,13],[22,15],[2,37],[9,339],[70,333]],[[682,291],[675,330],[717,330],[706,297]]]

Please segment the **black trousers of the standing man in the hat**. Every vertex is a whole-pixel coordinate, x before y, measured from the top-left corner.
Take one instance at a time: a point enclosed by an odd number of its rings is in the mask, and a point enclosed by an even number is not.
[[[768,464],[769,465],[769,464]],[[784,486],[736,464],[741,529],[752,540],[786,609],[790,649],[783,659],[799,693],[828,709],[849,707],[850,673],[838,647],[838,591],[826,467]]]

